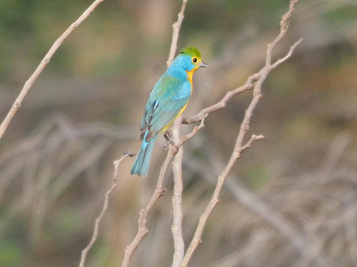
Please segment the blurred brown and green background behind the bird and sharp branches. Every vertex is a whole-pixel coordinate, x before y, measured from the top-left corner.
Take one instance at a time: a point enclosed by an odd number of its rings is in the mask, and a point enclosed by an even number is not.
[[[0,121],[52,43],[91,0],[0,2]],[[111,186],[112,162],[140,147],[147,97],[166,69],[178,0],[106,0],[61,45],[0,141],[0,266],[78,266]],[[184,116],[217,103],[265,61],[288,0],[190,0],[178,48],[198,70]],[[301,0],[274,51],[293,57],[263,84],[244,151],[190,266],[357,266],[357,1]],[[210,114],[184,146],[186,247],[231,156],[252,91]],[[193,125],[182,126],[182,133]],[[146,178],[119,169],[86,266],[121,266],[137,211],[166,157],[159,137]],[[131,266],[171,266],[172,171]]]

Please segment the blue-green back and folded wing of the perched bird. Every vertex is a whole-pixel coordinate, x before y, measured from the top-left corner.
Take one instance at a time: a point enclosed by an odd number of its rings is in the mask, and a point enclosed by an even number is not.
[[[185,107],[191,96],[191,84],[188,80],[163,75],[156,83],[147,100],[141,121],[141,139],[151,140]]]

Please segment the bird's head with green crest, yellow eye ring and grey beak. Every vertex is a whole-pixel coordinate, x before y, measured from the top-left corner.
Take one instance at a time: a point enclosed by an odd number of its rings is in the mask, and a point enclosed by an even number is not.
[[[195,71],[198,68],[208,67],[208,65],[201,59],[200,50],[193,46],[182,48],[175,61],[175,63],[180,64],[187,72]]]

